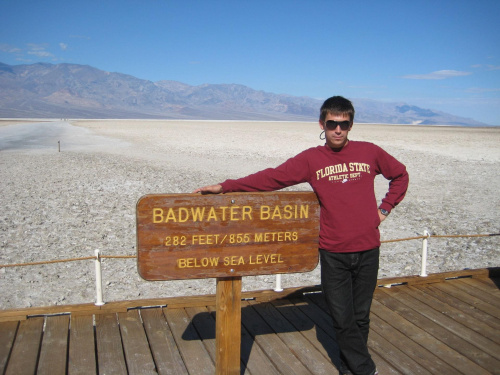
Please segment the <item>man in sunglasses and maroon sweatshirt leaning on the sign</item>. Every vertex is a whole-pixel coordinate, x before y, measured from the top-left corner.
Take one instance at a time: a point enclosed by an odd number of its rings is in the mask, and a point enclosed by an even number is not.
[[[353,120],[352,103],[341,96],[331,97],[323,103],[319,119],[324,146],[305,150],[276,168],[194,193],[272,191],[302,182],[311,185],[321,207],[321,285],[340,349],[340,371],[373,375],[377,372],[367,341],[379,267],[378,226],[404,198],[409,178],[405,166],[380,147],[348,139]],[[377,207],[374,179],[378,174],[390,183]]]

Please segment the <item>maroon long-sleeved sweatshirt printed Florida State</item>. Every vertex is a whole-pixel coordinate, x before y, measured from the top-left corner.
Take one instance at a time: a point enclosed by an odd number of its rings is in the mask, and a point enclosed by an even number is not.
[[[277,168],[226,180],[224,192],[273,191],[308,182],[321,206],[319,247],[346,253],[380,246],[375,176],[390,181],[380,208],[391,211],[406,194],[408,173],[403,164],[380,147],[349,141],[340,151],[310,148]]]

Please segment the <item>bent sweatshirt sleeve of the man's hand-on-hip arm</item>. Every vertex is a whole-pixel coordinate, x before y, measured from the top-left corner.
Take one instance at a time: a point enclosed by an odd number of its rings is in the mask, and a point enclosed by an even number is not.
[[[378,153],[379,170],[377,172],[389,180],[389,191],[382,199],[379,208],[391,212],[405,197],[410,179],[404,164],[381,148],[379,148]]]

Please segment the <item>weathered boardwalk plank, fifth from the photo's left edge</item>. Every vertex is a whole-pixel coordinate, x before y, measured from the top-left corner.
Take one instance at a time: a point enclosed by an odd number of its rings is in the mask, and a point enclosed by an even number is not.
[[[99,374],[126,374],[122,339],[116,314],[95,316]]]

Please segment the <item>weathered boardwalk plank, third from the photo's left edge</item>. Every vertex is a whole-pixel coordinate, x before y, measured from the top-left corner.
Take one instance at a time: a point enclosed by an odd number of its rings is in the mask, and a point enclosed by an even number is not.
[[[66,374],[69,318],[69,315],[46,318],[37,374]]]

